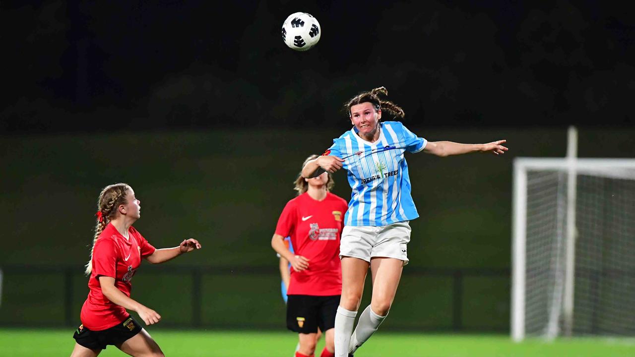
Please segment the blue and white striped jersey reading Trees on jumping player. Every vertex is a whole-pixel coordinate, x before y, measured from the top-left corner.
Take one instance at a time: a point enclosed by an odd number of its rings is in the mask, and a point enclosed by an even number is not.
[[[380,123],[379,140],[372,144],[355,127],[333,140],[325,154],[345,159],[352,188],[345,226],[387,226],[419,217],[404,152],[422,151],[426,144],[399,121]]]

